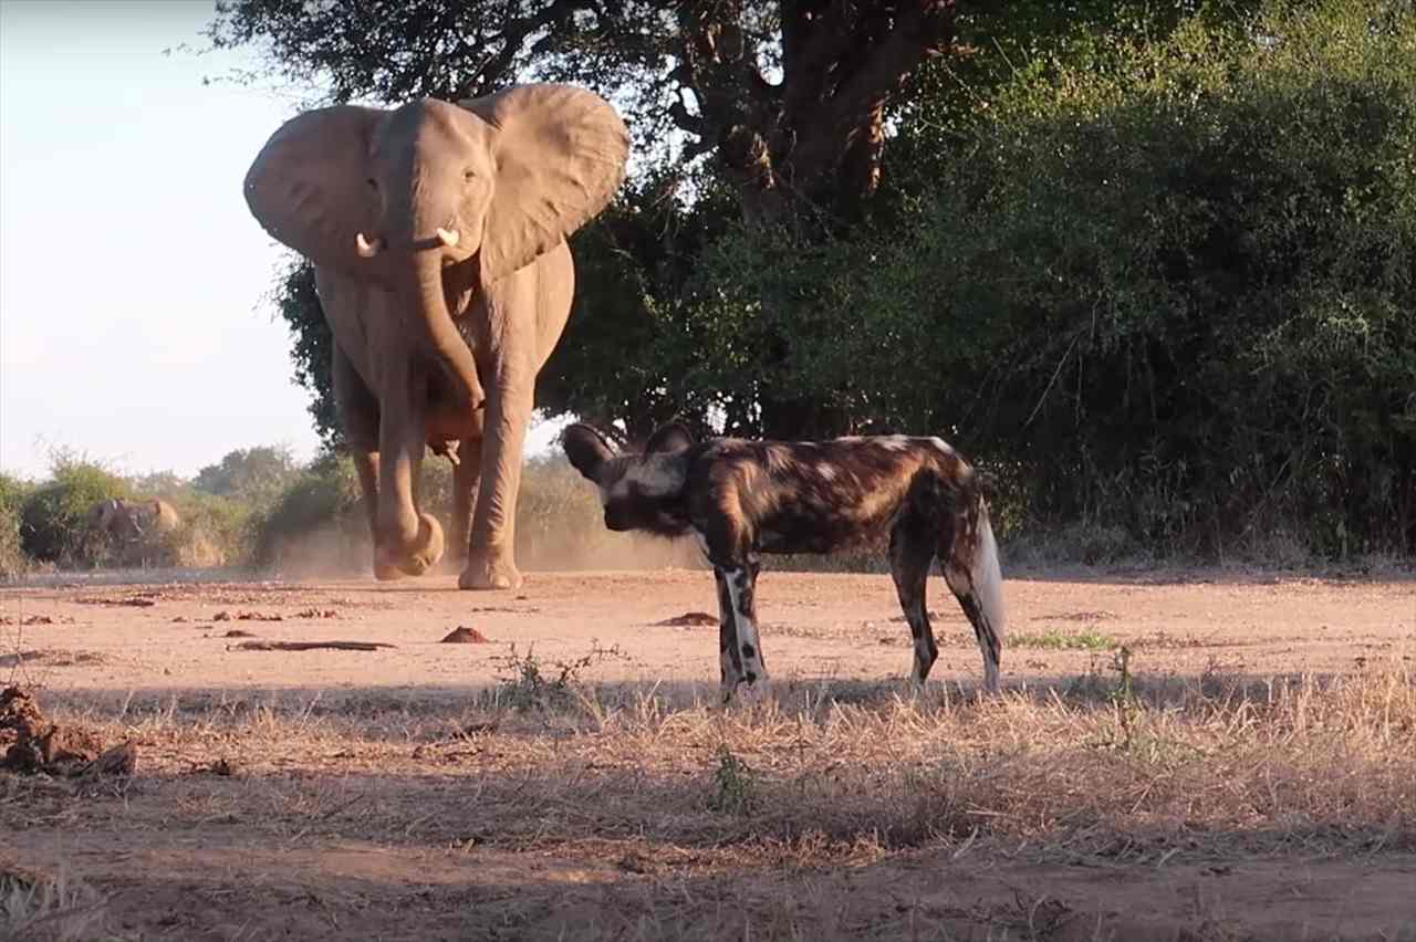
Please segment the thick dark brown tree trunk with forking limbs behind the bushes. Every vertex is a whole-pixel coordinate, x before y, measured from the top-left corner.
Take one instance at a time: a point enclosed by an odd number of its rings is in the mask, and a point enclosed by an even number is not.
[[[886,103],[920,62],[952,47],[954,1],[782,0],[777,83],[758,68],[743,7],[680,4],[674,75],[694,92],[698,115],[680,105],[674,117],[716,146],[745,222],[827,238],[864,218],[879,185]],[[790,362],[793,344],[782,331],[767,342],[770,375]],[[838,405],[767,385],[759,397],[766,437],[823,437],[851,424]]]

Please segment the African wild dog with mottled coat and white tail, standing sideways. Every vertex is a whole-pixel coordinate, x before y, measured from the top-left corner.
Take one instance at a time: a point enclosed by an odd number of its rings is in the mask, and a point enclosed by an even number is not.
[[[616,455],[589,426],[562,437],[571,464],[600,488],[605,525],[661,536],[694,533],[718,581],[722,694],[766,680],[753,600],[759,553],[833,553],[889,535],[891,573],[915,638],[912,679],[939,656],[925,607],[929,566],[983,651],[984,687],[998,689],[1003,574],[988,508],[973,468],[940,438],[827,441],[711,438],[656,431],[641,454]]]

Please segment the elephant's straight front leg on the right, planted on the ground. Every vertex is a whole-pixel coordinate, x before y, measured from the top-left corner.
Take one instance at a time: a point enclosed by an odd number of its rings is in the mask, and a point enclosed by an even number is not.
[[[487,397],[486,438],[481,446],[481,481],[473,513],[467,567],[462,588],[518,588],[515,564],[517,492],[521,489],[521,448],[531,421],[535,365],[525,351],[515,351],[493,366]]]

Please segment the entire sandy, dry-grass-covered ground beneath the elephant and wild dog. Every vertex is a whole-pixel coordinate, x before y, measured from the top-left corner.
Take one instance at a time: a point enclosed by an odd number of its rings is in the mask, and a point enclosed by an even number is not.
[[[0,680],[139,748],[0,772],[10,931],[1416,941],[1410,577],[1014,577],[994,702],[930,591],[908,699],[888,576],[765,571],[722,710],[701,571],[0,590]],[[392,646],[241,646],[330,639]]]

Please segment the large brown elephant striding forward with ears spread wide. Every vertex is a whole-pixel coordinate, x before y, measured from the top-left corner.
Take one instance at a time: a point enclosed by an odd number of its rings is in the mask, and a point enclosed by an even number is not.
[[[609,204],[627,158],[607,102],[534,83],[309,110],[252,163],[251,214],[314,267],[377,578],[421,576],[443,554],[413,491],[430,446],[455,464],[457,586],[521,586],[521,448],[571,311],[566,239]]]

